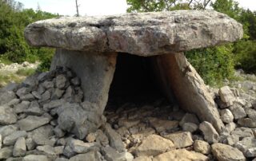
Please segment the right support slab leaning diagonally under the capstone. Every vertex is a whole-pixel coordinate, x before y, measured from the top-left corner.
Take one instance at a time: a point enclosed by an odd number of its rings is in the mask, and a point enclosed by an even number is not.
[[[158,64],[159,70],[166,73],[162,81],[169,82],[166,88],[174,92],[181,108],[195,113],[200,120],[208,121],[218,132],[221,132],[224,124],[220,119],[214,99],[184,54],[165,54],[154,61]]]

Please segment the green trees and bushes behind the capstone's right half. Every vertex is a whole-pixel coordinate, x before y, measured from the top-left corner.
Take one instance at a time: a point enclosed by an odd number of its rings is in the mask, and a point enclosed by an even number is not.
[[[197,69],[206,84],[218,85],[223,79],[232,79],[234,69],[256,73],[256,12],[243,10],[234,0],[127,0],[128,12],[161,10],[205,10],[211,8],[242,23],[241,41],[186,52],[186,57]]]

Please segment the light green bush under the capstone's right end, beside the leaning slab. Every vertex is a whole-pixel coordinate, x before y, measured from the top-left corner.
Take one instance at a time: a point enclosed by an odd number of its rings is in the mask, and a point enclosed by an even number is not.
[[[234,76],[233,44],[186,52],[191,65],[198,71],[206,84],[219,86],[225,78]]]

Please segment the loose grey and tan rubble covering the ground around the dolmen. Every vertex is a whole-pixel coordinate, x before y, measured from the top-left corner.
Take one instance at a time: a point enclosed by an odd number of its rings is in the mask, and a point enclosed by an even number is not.
[[[82,102],[75,73],[63,67],[38,73],[0,91],[0,159],[253,160],[256,84],[246,90],[244,82],[209,88],[226,124],[218,133],[163,98],[108,104],[100,116],[97,104]]]

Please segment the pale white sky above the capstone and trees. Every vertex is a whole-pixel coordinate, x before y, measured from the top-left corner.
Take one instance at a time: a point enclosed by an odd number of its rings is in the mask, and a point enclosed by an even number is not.
[[[25,8],[37,9],[39,4],[41,10],[62,15],[74,15],[74,0],[17,0],[22,2]],[[236,0],[243,8],[256,11],[256,0]],[[103,15],[126,13],[126,0],[78,0],[81,15]]]

